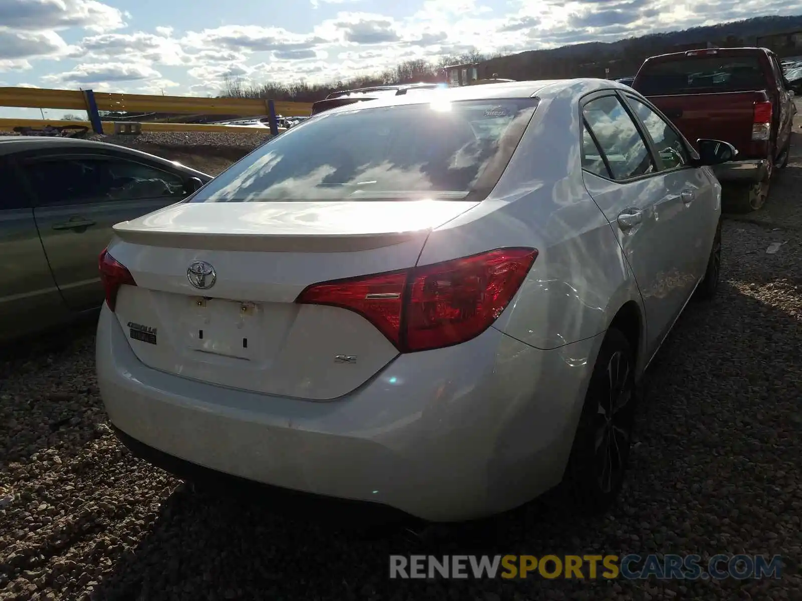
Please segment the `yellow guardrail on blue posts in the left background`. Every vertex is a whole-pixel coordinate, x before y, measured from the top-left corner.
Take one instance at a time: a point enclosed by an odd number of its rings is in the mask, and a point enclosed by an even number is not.
[[[312,112],[312,103],[290,103],[282,100],[245,98],[197,98],[193,96],[151,96],[143,94],[112,94],[111,92],[93,92],[91,90],[46,90],[34,87],[0,87],[0,107],[19,108],[59,108],[70,111],[87,111],[88,123],[94,131],[99,132],[99,111],[127,111],[131,113],[174,113],[181,115],[237,115],[238,117],[256,117],[270,115],[270,104],[273,104],[273,115],[286,117],[306,117]],[[39,119],[0,119],[0,122],[16,121],[18,127],[23,121],[35,123],[32,127],[41,126]],[[6,126],[0,123],[0,130]],[[75,121],[51,121],[51,125],[75,125]],[[80,122],[84,124],[86,122]],[[105,125],[109,125],[107,122]],[[107,127],[103,127],[105,133]],[[156,129],[153,126],[164,126]],[[195,129],[202,127],[202,129]],[[210,129],[219,127],[221,129]],[[194,123],[144,123],[143,131],[251,131],[255,127],[203,125]]]

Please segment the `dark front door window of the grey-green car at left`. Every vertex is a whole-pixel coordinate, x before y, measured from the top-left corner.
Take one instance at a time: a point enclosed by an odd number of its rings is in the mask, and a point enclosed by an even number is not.
[[[40,207],[186,196],[180,175],[125,159],[45,159],[24,171]]]

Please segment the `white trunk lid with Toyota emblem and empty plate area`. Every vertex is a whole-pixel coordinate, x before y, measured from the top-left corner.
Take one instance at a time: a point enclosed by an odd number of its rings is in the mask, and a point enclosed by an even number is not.
[[[341,397],[398,350],[357,313],[298,305],[298,294],[321,281],[411,268],[431,228],[474,206],[172,205],[115,226],[109,254],[136,281],[120,288],[115,314],[136,356],[153,369],[258,393]],[[189,272],[198,262],[202,268]]]

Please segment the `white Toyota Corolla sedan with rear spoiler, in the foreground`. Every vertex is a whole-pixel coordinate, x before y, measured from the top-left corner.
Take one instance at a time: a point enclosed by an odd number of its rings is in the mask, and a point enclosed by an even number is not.
[[[495,514],[605,510],[634,390],[719,279],[720,191],[630,87],[359,103],[270,140],[100,256],[111,423],[176,474]]]

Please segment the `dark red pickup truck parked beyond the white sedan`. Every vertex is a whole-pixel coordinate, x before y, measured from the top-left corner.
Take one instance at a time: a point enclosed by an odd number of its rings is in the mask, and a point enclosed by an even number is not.
[[[724,209],[763,206],[772,175],[788,164],[796,114],[776,54],[765,48],[709,48],[647,58],[632,87],[691,142],[721,139],[738,150],[714,167]]]

